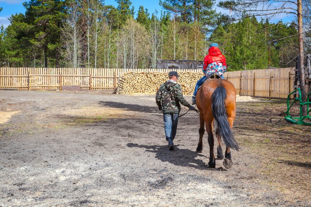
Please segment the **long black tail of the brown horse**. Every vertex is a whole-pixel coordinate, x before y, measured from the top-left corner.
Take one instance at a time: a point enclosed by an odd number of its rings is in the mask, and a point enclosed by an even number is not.
[[[227,111],[225,109],[225,98],[227,92],[224,86],[218,86],[212,94],[212,111],[216,120],[220,135],[223,137],[225,145],[239,151],[239,145],[234,139],[230,128]]]

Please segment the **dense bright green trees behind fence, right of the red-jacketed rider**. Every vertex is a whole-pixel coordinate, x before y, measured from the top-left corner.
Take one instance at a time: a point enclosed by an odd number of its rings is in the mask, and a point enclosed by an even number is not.
[[[292,44],[298,43],[296,37],[288,38],[294,34],[297,31],[293,25],[258,22],[255,17],[251,17],[224,27],[218,26],[210,41],[220,45],[229,70],[288,67],[292,66],[287,63],[290,57],[295,57],[296,52]]]

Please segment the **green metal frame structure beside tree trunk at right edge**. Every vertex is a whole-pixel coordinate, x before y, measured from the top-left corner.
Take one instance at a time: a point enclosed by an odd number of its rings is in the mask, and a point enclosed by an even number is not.
[[[290,105],[290,96],[292,94],[295,94],[297,93],[299,94],[298,97],[295,97],[294,100],[293,100],[293,103]],[[309,119],[311,120],[311,115],[309,115],[310,111],[311,111],[311,102],[310,102],[310,97],[311,95],[311,92],[309,92],[307,94],[307,101],[308,102],[302,102],[302,98],[301,98],[301,91],[300,91],[300,88],[297,88],[296,90],[294,90],[292,93],[290,93],[288,96],[287,96],[287,111],[285,111],[284,113],[286,113],[287,115],[285,116],[285,119],[289,122],[292,122],[294,124],[298,124],[298,125],[311,125],[311,122],[305,122],[304,119]],[[290,109],[292,108],[292,106],[294,105],[294,103],[296,101],[299,101],[299,111],[300,111],[300,116],[299,117],[292,117],[290,115]],[[303,105],[307,105],[307,115],[306,116],[303,116],[302,115],[302,106]]]

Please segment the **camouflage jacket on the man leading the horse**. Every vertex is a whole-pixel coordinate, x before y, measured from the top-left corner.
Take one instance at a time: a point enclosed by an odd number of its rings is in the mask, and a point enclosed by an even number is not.
[[[155,102],[163,113],[179,113],[179,103],[187,107],[191,106],[183,97],[181,86],[169,80],[161,84],[156,93]]]

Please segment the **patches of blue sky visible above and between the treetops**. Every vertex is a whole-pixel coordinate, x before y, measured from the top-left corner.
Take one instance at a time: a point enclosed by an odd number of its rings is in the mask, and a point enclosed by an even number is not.
[[[15,15],[16,13],[25,13],[25,8],[23,7],[23,2],[27,0],[0,0],[0,7],[3,8],[3,10],[0,12],[0,25],[3,24],[4,27],[7,27],[10,22],[8,18],[11,15]],[[155,10],[158,11],[158,15],[160,14],[160,11],[162,10],[162,7],[159,5],[159,0],[131,0],[132,6],[135,7],[135,14],[137,15],[137,11],[139,9],[139,6],[144,6],[144,8],[147,8],[149,13],[155,12]],[[220,0],[216,0],[216,3],[218,3]],[[117,2],[115,0],[105,0],[106,5],[113,5],[118,6]],[[228,14],[228,11],[225,11],[223,9],[217,8],[218,12],[222,12],[225,14]],[[259,17],[260,18],[260,17]],[[270,22],[277,22],[279,20],[283,20],[283,22],[289,22],[290,19],[293,19],[292,16],[287,16],[285,14],[279,15],[271,19]]]

